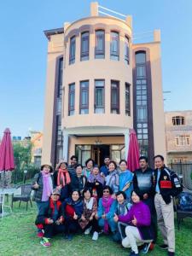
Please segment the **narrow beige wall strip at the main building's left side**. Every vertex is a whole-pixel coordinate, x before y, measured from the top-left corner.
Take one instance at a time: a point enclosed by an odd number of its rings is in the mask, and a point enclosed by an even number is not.
[[[44,108],[44,142],[42,151],[42,163],[50,162],[52,126],[54,111],[55,93],[55,66],[56,58],[63,55],[63,34],[50,37],[47,56],[47,77],[45,87],[45,108]]]

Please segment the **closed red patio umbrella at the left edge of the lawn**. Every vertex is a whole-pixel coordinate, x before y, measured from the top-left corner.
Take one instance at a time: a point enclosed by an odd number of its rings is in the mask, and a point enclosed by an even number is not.
[[[11,143],[10,130],[6,128],[4,131],[2,143],[0,145],[0,172],[12,171],[15,169],[14,165],[14,150]],[[4,186],[4,175],[3,175]]]

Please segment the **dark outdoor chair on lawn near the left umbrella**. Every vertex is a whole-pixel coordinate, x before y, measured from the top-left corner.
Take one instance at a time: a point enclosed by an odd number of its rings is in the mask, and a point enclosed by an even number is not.
[[[12,204],[15,201],[25,201],[26,202],[26,211],[28,209],[28,203],[30,201],[31,207],[32,207],[32,200],[31,200],[31,193],[32,193],[32,185],[31,184],[22,184],[17,187],[17,189],[21,190],[20,195],[14,195]],[[19,203],[19,208],[20,208],[20,203]]]

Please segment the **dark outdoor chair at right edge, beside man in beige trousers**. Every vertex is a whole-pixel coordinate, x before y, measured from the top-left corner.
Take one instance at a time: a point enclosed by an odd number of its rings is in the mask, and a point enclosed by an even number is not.
[[[185,195],[192,195],[191,192],[182,192],[180,195],[177,195],[177,197],[174,198],[174,210],[177,214],[177,228],[180,229],[180,224],[183,218],[192,218],[192,209],[191,210],[184,210],[179,206],[180,197],[185,193]]]

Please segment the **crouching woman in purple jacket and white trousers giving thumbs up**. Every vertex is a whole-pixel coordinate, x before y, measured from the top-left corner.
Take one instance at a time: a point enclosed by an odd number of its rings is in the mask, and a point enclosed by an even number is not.
[[[132,191],[131,198],[133,206],[126,215],[114,216],[114,221],[127,224],[125,228],[126,237],[122,241],[123,247],[131,247],[130,256],[139,255],[137,246],[146,243],[143,253],[148,253],[151,241],[153,241],[153,230],[151,229],[151,214],[147,205],[141,201],[139,195]]]

